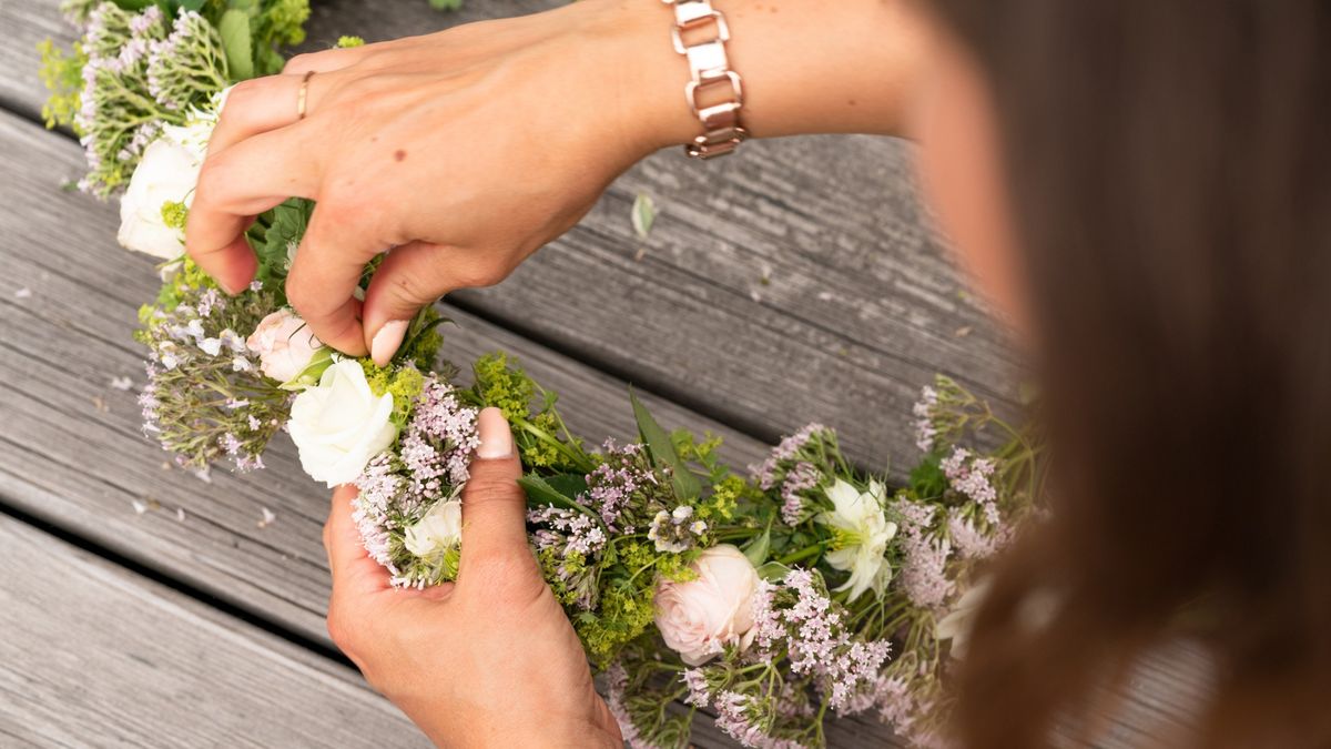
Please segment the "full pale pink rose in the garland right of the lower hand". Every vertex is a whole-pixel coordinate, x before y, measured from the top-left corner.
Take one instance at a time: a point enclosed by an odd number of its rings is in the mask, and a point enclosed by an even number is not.
[[[753,593],[757,570],[729,544],[703,552],[687,582],[663,580],[656,588],[656,629],[691,666],[701,665],[725,645],[747,648],[753,640]]]

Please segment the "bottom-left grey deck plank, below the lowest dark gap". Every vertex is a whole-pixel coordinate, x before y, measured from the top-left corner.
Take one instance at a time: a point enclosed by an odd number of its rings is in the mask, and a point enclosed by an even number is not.
[[[354,670],[8,516],[0,576],[5,746],[429,745]]]

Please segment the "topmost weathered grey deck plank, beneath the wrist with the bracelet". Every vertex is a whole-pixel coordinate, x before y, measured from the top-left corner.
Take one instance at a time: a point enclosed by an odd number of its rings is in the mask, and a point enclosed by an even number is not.
[[[0,11],[17,37],[0,53],[0,79],[31,77],[55,1]],[[314,4],[306,47],[552,4],[478,0],[453,15],[423,0],[327,0]],[[35,81],[7,85],[23,112],[40,107]],[[628,223],[639,191],[662,207],[642,260]],[[836,425],[873,466],[916,457],[902,414],[934,372],[1001,400],[1014,390],[1012,356],[928,229],[910,152],[890,139],[751,143],[708,164],[659,153],[507,283],[455,297],[760,438]]]

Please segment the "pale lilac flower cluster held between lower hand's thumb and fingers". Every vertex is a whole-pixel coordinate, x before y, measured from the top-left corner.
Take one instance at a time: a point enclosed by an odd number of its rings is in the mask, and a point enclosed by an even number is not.
[[[406,532],[462,492],[479,444],[476,409],[462,405],[454,386],[431,373],[395,448],[371,458],[357,477],[351,517],[365,550],[389,570],[393,585],[442,582],[447,569],[413,554]]]

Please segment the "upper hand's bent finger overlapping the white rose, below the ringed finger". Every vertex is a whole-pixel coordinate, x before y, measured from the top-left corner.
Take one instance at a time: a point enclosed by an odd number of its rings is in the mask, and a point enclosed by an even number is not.
[[[256,135],[209,153],[185,225],[185,251],[229,293],[253,280],[257,261],[245,232],[254,216],[289,197],[315,199],[322,167],[309,148],[310,120]]]

